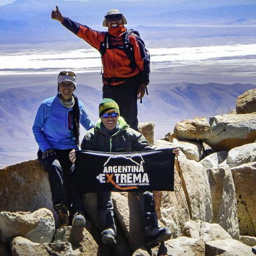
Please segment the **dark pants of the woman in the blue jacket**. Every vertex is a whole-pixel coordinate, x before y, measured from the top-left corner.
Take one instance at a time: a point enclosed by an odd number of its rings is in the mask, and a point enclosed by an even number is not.
[[[65,203],[71,211],[83,211],[83,202],[79,194],[73,164],[68,159],[71,149],[54,150],[56,155],[42,159],[42,151],[39,150],[37,157],[39,162],[48,172],[52,192],[53,205]]]

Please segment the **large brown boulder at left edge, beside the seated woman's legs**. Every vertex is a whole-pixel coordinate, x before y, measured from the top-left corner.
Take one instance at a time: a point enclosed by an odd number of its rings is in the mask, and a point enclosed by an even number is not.
[[[53,211],[48,174],[38,160],[3,167],[0,173],[0,212]]]

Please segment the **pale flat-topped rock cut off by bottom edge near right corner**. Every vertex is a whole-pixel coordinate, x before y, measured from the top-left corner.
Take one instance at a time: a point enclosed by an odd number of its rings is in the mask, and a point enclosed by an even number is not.
[[[205,256],[255,256],[250,246],[234,239],[216,240],[205,243]]]

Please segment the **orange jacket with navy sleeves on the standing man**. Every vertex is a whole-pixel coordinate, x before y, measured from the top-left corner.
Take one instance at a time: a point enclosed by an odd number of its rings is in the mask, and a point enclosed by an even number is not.
[[[75,35],[84,39],[98,51],[100,50],[101,43],[104,41],[107,34],[105,31],[93,30],[69,18],[65,18],[62,25],[72,31]],[[111,46],[124,44],[122,34],[118,37],[109,36],[110,49],[107,49],[106,53],[102,57],[103,83],[106,84],[108,83],[107,81],[109,81],[111,85],[117,85],[123,83],[125,79],[129,77],[138,75],[139,83],[148,85],[150,59],[149,54],[145,51],[145,45],[142,43],[141,38],[133,35],[129,36],[129,41],[133,47],[134,60],[136,63],[136,67],[133,70],[130,67],[130,60],[123,50],[117,48],[111,49]]]

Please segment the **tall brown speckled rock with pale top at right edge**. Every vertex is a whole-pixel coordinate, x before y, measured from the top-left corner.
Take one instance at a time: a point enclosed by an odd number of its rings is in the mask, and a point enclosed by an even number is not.
[[[256,236],[256,162],[231,168],[241,235]]]

